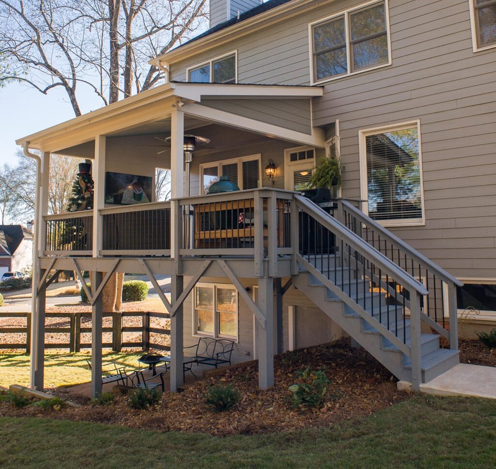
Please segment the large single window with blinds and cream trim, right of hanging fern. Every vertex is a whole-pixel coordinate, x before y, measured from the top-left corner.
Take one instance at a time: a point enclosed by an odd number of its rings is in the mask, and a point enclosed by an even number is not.
[[[419,122],[362,131],[362,199],[384,225],[424,224]]]

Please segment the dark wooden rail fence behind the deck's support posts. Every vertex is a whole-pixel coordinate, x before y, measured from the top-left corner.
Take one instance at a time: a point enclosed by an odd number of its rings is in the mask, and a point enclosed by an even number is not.
[[[68,318],[68,327],[51,327],[45,326],[45,333],[68,334],[68,342],[60,343],[45,343],[45,348],[68,348],[71,352],[79,352],[81,348],[91,348],[91,342],[81,342],[81,334],[90,333],[90,327],[83,327],[82,319],[90,318],[91,313],[46,313],[47,318]],[[112,348],[112,350],[120,352],[123,348],[139,347],[143,350],[154,348],[157,350],[169,351],[168,345],[153,343],[150,339],[150,334],[170,335],[169,329],[150,327],[150,318],[168,319],[168,313],[153,313],[141,311],[124,311],[122,313],[103,313],[104,318],[112,318],[112,327],[102,328],[103,333],[112,333],[112,342],[104,342],[104,348]],[[123,326],[123,318],[141,317],[141,326]],[[24,327],[0,327],[1,334],[26,334],[26,342],[22,343],[0,343],[1,349],[18,349],[25,348],[27,353],[30,353],[31,344],[31,313],[0,313],[2,318],[26,318],[26,326]],[[141,333],[140,342],[123,342],[123,333],[136,332]]]

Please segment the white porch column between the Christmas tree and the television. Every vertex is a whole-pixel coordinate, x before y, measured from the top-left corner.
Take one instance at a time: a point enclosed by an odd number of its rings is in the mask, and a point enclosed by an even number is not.
[[[103,248],[103,224],[99,210],[105,207],[105,135],[95,137],[95,159],[92,175],[95,184],[93,195],[93,257],[99,257]]]

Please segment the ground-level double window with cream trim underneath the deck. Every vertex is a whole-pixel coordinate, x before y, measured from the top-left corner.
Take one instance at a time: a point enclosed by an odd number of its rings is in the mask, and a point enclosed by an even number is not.
[[[238,291],[229,284],[198,283],[193,293],[193,334],[238,338]]]

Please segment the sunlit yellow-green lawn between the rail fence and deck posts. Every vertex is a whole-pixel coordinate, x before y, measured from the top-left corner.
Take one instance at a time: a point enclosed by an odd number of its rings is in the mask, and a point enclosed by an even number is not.
[[[139,353],[103,354],[103,362],[116,361],[132,369],[137,368]],[[91,359],[90,351],[69,353],[49,351],[45,355],[45,387],[70,386],[91,381],[91,372],[86,359]],[[0,354],[0,386],[11,384],[29,386],[29,355],[20,353]]]

